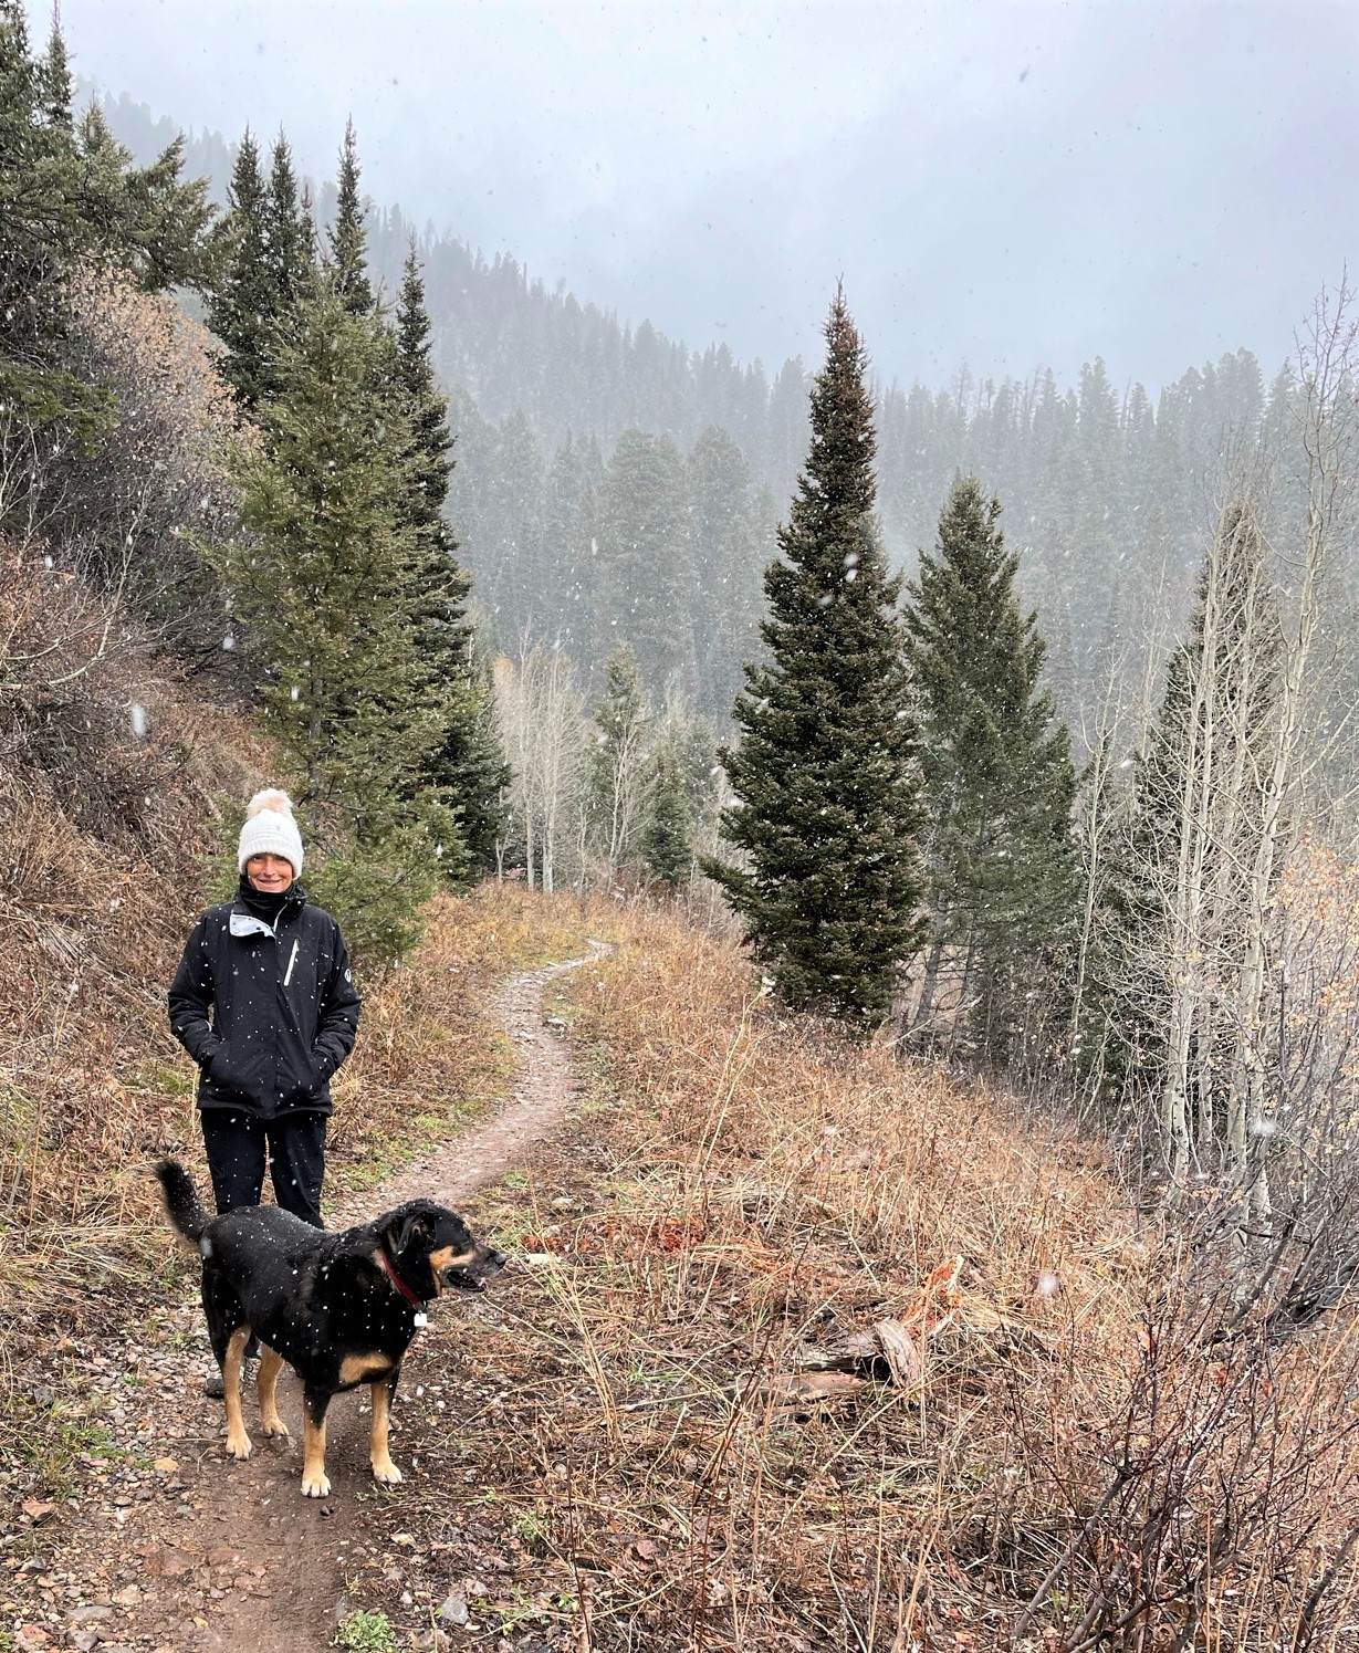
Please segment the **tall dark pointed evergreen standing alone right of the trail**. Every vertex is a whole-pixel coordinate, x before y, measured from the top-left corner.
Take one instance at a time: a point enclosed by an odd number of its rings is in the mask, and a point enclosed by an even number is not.
[[[737,797],[722,817],[744,866],[706,871],[795,1008],[856,1028],[891,1013],[916,952],[916,731],[896,600],[873,517],[866,352],[837,293],[812,390],[812,446],[765,570],[769,663],[746,668]]]

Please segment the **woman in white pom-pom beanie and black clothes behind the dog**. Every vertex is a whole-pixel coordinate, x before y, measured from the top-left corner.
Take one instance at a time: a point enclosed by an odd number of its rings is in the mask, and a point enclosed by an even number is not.
[[[354,1048],[360,998],[339,924],[308,904],[286,792],[250,800],[235,899],[193,926],[170,984],[170,1030],[198,1063],[217,1210],[276,1202],[321,1228],[331,1076]]]

